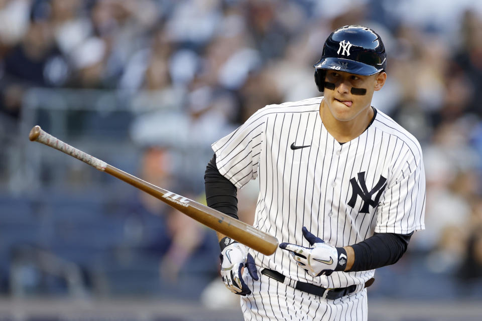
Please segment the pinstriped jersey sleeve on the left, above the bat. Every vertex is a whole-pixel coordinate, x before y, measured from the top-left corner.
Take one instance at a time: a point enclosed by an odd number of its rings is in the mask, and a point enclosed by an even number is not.
[[[263,109],[260,109],[243,125],[211,145],[219,173],[239,189],[258,176],[265,123]]]

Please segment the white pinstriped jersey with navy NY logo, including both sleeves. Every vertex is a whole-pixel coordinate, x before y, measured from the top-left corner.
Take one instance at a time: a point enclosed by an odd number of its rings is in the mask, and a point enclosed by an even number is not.
[[[365,132],[340,144],[321,121],[322,98],[268,105],[212,144],[219,172],[237,188],[259,176],[254,226],[280,243],[306,247],[303,226],[336,247],[374,232],[424,229],[425,174],[416,138],[377,111]],[[365,283],[375,272],[312,277],[279,248],[271,256],[250,251],[258,266],[328,288]]]

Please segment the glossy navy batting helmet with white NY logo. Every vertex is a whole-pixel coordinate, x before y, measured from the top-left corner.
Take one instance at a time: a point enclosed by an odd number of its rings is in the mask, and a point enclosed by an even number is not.
[[[316,86],[323,92],[326,69],[365,76],[385,70],[385,47],[380,36],[372,29],[344,26],[328,36],[321,59],[313,67]]]

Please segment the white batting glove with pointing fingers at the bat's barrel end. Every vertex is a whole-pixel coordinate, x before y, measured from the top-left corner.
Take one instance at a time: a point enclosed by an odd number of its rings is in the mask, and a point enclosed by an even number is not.
[[[334,247],[311,234],[306,227],[302,229],[304,238],[312,247],[291,243],[281,243],[280,248],[290,251],[296,264],[311,276],[330,275],[333,271],[343,271],[346,267],[346,251]]]

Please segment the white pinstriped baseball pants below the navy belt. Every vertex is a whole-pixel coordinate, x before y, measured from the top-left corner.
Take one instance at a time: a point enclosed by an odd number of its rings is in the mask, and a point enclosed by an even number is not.
[[[246,274],[245,280],[252,293],[240,298],[245,320],[368,320],[367,289],[329,300],[297,290],[261,273],[258,273],[258,281]]]

